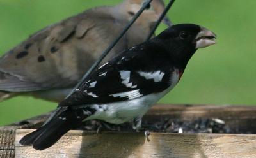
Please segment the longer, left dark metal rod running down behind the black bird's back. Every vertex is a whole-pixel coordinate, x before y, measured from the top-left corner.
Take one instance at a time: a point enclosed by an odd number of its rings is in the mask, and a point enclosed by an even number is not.
[[[99,57],[99,59],[94,62],[94,64],[92,65],[92,67],[86,72],[86,74],[83,76],[83,78],[80,80],[79,83],[77,83],[77,85],[74,87],[74,89],[72,89],[72,91],[68,94],[67,97],[69,97],[78,87],[81,86],[81,84],[84,82],[84,80],[92,73],[92,71],[97,68],[97,66],[100,64],[100,62],[104,59],[104,57],[106,57],[106,55],[111,51],[111,49],[113,47],[115,47],[116,43],[118,43],[118,41],[122,38],[122,36],[124,36],[125,32],[128,31],[128,29],[131,27],[131,25],[137,20],[138,17],[140,17],[141,13],[148,7],[148,5],[152,2],[152,0],[147,0],[145,1],[145,3],[143,4],[143,6],[140,8],[140,10],[138,11],[138,13],[136,13],[136,15],[134,15],[134,17],[132,18],[132,20],[129,22],[129,24],[127,24],[124,28],[124,30],[120,33],[120,35],[115,39],[115,41],[113,41],[113,43],[111,43],[111,45],[109,45],[109,47],[102,53],[102,55]],[[66,98],[67,98],[66,97]],[[65,98],[65,99],[66,99]]]

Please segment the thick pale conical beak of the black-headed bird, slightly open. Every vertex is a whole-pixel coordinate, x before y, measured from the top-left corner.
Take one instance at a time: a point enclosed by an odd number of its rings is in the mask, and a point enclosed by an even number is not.
[[[217,38],[214,32],[201,27],[201,31],[197,34],[195,41],[196,41],[196,49],[198,48],[205,48],[209,45],[214,45],[216,43],[215,39]]]

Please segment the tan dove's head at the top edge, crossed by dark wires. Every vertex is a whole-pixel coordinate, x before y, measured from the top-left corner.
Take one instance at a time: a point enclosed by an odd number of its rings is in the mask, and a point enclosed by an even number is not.
[[[122,6],[122,11],[125,10],[125,16],[127,17],[127,20],[131,20],[131,18],[134,17],[134,15],[140,10],[144,3],[145,0],[124,0],[120,6]],[[144,10],[140,17],[136,20],[136,24],[150,25],[151,27],[160,17],[161,13],[163,13],[163,10],[163,0],[152,1],[146,10]],[[168,26],[172,25],[167,17],[164,17],[163,23]]]

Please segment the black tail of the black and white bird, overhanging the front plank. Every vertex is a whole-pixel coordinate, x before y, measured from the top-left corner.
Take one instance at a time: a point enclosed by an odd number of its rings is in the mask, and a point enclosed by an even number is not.
[[[49,148],[70,129],[76,128],[86,117],[92,115],[93,110],[89,106],[81,109],[67,106],[58,108],[42,127],[24,136],[20,144],[33,145],[36,150]]]

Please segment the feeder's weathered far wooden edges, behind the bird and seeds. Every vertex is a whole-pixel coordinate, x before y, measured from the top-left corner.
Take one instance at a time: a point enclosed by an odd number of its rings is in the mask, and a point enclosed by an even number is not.
[[[241,128],[250,127],[256,132],[256,106],[216,106],[216,105],[170,105],[158,104],[148,111],[145,119],[162,119],[163,117],[179,118],[191,120],[196,118],[217,117],[225,120],[230,126],[236,126],[241,122]],[[0,127],[1,129],[36,129],[40,127],[49,117],[50,113],[45,113],[31,119]],[[244,126],[244,127],[243,127]],[[252,126],[252,127],[251,127]]]

